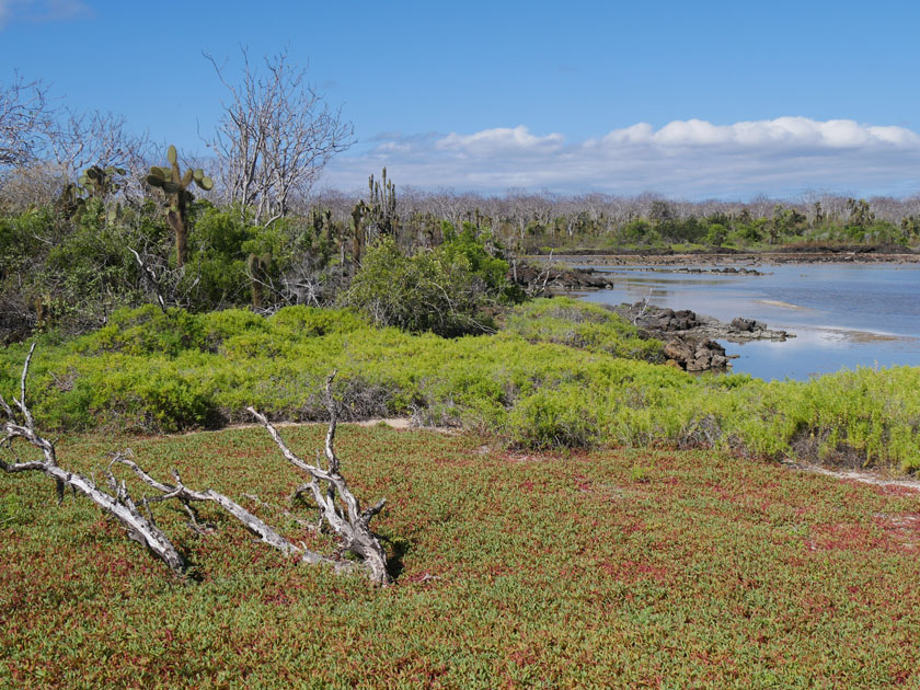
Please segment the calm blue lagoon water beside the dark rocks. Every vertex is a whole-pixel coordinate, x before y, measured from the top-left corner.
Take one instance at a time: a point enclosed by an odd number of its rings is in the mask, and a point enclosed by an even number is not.
[[[746,317],[796,337],[721,341],[733,370],[762,379],[808,379],[856,366],[920,366],[920,265],[787,264],[769,275],[686,274],[668,267],[595,266],[612,289],[584,299],[652,303],[731,321]]]

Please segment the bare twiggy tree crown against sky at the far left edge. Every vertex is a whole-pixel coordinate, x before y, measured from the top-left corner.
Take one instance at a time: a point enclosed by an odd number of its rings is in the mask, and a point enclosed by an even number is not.
[[[33,161],[54,117],[47,87],[25,81],[19,73],[0,87],[0,165]]]

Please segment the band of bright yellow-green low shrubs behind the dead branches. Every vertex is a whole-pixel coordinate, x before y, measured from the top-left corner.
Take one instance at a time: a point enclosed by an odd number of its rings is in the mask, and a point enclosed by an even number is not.
[[[18,386],[23,345],[2,353]],[[623,356],[632,358],[623,358]],[[660,344],[571,299],[515,308],[495,335],[442,338],[376,329],[347,310],[119,311],[90,335],[47,338],[33,364],[41,423],[143,433],[324,417],[333,368],[354,418],[414,415],[524,448],[716,448],[758,458],[920,468],[920,370],[841,371],[807,382],[693,377]]]

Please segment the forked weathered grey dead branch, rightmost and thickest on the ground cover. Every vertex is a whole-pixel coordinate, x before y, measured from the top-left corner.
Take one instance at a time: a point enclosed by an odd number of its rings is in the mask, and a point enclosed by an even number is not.
[[[325,402],[330,413],[324,449],[329,467],[325,470],[320,467],[320,459],[323,453],[317,451],[317,464],[309,464],[287,447],[278,430],[272,426],[263,414],[254,407],[246,407],[246,410],[265,427],[285,459],[310,475],[310,482],[298,488],[297,493],[302,494],[307,491],[312,493],[322,518],[340,537],[342,551],[349,552],[360,559],[371,582],[386,585],[390,582],[387,572],[387,554],[378,537],[370,531],[369,525],[373,516],[383,509],[387,499],[383,498],[363,510],[360,502],[348,488],[345,478],[340,472],[340,461],[334,449],[335,428],[340,412],[338,404],[332,395],[332,381],[335,373],[333,372],[326,378],[325,383]]]

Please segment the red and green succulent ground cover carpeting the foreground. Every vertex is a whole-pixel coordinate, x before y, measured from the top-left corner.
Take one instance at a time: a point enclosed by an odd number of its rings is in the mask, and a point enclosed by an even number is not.
[[[325,426],[284,433],[309,455]],[[195,566],[180,580],[89,502],[56,507],[44,478],[0,476],[0,685],[920,683],[918,494],[713,451],[484,442],[340,427],[349,484],[388,498],[384,589],[295,565],[207,507],[219,533],[197,534],[161,504]],[[315,515],[288,503],[299,478],[262,428],[65,436],[58,457],[90,472],[126,446],[333,548],[294,519]]]

